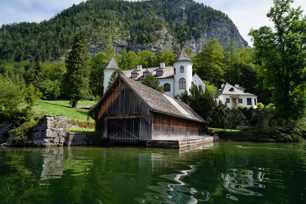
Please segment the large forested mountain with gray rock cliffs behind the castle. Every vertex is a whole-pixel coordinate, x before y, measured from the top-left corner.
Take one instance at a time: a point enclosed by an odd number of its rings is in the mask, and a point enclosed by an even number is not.
[[[80,29],[88,32],[89,50],[99,52],[111,36],[117,52],[163,50],[177,52],[185,45],[198,54],[202,44],[216,38],[225,48],[230,40],[248,46],[230,18],[193,0],[88,0],[41,23],[3,24],[0,59],[10,62],[40,56],[44,61],[63,57]]]

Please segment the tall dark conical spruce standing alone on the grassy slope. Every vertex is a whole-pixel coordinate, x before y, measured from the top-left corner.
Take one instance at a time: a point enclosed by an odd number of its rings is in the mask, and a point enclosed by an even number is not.
[[[84,30],[80,31],[74,38],[72,50],[65,61],[67,72],[65,73],[66,94],[70,98],[70,105],[76,108],[77,102],[83,100],[89,93],[88,66],[89,51],[87,36]]]

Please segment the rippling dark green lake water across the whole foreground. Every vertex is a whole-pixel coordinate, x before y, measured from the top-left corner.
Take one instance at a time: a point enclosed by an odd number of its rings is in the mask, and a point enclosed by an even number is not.
[[[2,148],[0,203],[306,203],[306,143]]]

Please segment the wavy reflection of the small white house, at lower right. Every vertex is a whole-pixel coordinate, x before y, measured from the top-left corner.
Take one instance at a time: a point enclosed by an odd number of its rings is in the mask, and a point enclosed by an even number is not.
[[[263,196],[261,193],[248,189],[251,187],[264,188],[265,185],[257,183],[264,182],[263,176],[263,172],[245,169],[231,169],[230,173],[221,174],[221,185],[235,194]]]

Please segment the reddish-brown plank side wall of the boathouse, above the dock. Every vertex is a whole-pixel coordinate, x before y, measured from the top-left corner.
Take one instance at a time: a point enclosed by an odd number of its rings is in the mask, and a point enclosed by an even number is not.
[[[205,136],[205,124],[161,113],[154,113],[152,138],[182,138],[189,131],[190,137]]]

